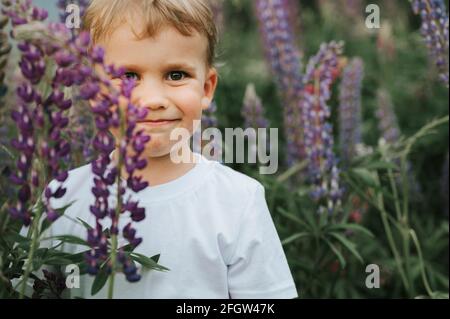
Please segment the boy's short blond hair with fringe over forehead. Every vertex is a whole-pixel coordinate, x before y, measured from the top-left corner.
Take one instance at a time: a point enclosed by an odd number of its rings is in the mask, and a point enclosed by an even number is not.
[[[91,33],[93,43],[111,35],[124,22],[142,17],[144,30],[138,38],[154,36],[170,25],[181,34],[193,31],[208,40],[207,63],[213,66],[217,45],[217,28],[208,0],[92,0],[83,19],[83,29]]]

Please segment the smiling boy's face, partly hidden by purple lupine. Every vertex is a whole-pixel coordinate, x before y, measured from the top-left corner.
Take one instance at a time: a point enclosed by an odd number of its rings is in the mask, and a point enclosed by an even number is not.
[[[106,64],[125,67],[125,76],[136,81],[132,102],[148,109],[146,121],[137,124],[151,136],[146,155],[169,154],[177,143],[170,140],[172,130],[185,128],[192,134],[193,121],[201,119],[213,99],[217,73],[206,65],[206,37],[197,32],[183,36],[167,26],[154,37],[137,39],[123,24],[98,44],[105,49]],[[121,81],[112,79],[117,86]],[[118,138],[117,129],[111,133]]]

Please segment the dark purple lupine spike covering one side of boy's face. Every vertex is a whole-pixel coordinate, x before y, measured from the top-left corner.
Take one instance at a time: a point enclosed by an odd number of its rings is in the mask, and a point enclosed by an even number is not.
[[[103,66],[105,71],[112,77],[123,78],[125,73],[124,69],[115,68],[114,66],[104,66],[102,64],[103,59],[99,58],[98,52],[100,51],[97,50],[96,56],[92,58],[92,64]],[[95,80],[97,82],[100,81],[100,79]],[[148,186],[148,183],[142,181],[142,178],[136,176],[135,173],[144,169],[147,165],[147,161],[141,157],[150,137],[145,135],[144,131],[136,129],[136,122],[146,118],[147,110],[138,108],[130,102],[134,82],[124,79],[120,92],[115,92],[108,80],[102,81],[101,83],[110,88],[110,94],[98,96],[97,86],[95,85],[91,85],[91,88],[80,92],[83,97],[97,97],[92,108],[97,126],[97,133],[93,139],[93,146],[99,153],[99,156],[92,162],[92,172],[96,175],[94,187],[92,188],[92,193],[95,196],[95,203],[90,207],[90,210],[96,217],[97,229],[102,228],[103,220],[108,217],[111,220],[110,233],[113,236],[117,236],[119,234],[119,214],[116,212],[118,208],[110,207],[109,198],[111,192],[109,189],[117,183],[118,179],[120,179],[117,192],[119,192],[119,198],[122,201],[127,187],[137,193]],[[127,100],[125,109],[126,116],[123,114],[120,115],[120,108],[116,108],[116,111],[114,111],[114,106],[119,104],[120,97]],[[118,141],[119,161],[117,163],[118,165],[114,165],[114,163],[111,162],[110,153],[115,149],[116,143],[114,138],[110,135],[109,129],[112,127],[120,128],[121,121],[125,121],[123,123],[125,134],[123,139]],[[119,164],[123,165],[124,170],[128,174],[125,183],[121,179],[122,167],[120,167]],[[121,205],[120,214],[129,212],[132,221],[138,222],[145,218],[145,208],[140,207],[138,202],[133,201],[131,197],[123,203],[116,203],[116,205],[119,204]],[[141,240],[134,236],[135,232],[136,231],[132,228],[131,223],[127,224],[122,231],[124,238],[129,241],[133,248],[141,243]],[[95,231],[90,237],[92,238],[92,249],[90,253],[86,255],[86,258],[90,265],[90,273],[96,274],[108,252],[105,251],[103,244],[98,245],[105,241],[104,233]],[[136,272],[130,271],[132,262],[128,256],[123,252],[119,252],[119,258],[117,260],[122,263],[128,281],[133,282],[139,279]],[[113,269],[111,269],[113,264],[114,262],[110,262],[107,265],[108,271],[113,271]]]

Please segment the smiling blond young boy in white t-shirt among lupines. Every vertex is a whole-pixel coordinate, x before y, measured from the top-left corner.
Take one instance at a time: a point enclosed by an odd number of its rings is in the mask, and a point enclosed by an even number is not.
[[[138,124],[151,141],[142,172],[150,187],[136,194],[146,208],[146,218],[135,223],[143,237],[137,252],[160,254],[159,263],[170,269],[142,269],[142,279],[133,284],[118,275],[114,297],[297,297],[263,186],[200,154],[193,154],[196,163],[170,158],[176,142],[171,131],[192,133],[217,85],[216,28],[207,0],[93,0],[84,27],[105,48],[107,64],[126,67],[126,76],[137,83],[133,102],[149,111]],[[119,85],[121,79],[113,81]],[[93,178],[90,165],[69,173],[67,193],[53,205],[74,203],[52,226],[53,235],[86,236],[74,220],[95,222],[89,212]],[[83,276],[72,296],[91,298],[92,280]],[[106,289],[95,298],[105,297]]]

